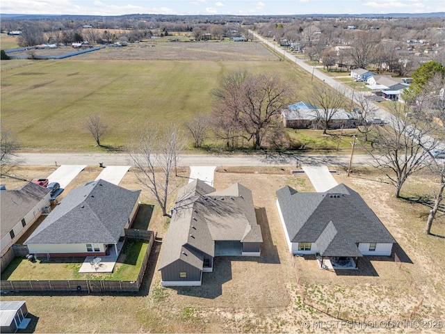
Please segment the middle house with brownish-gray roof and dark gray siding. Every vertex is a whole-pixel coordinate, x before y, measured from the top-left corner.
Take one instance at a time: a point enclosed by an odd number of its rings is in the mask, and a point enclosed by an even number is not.
[[[201,180],[179,190],[159,270],[163,286],[200,286],[218,256],[260,256],[263,238],[252,191],[236,183],[216,191]]]

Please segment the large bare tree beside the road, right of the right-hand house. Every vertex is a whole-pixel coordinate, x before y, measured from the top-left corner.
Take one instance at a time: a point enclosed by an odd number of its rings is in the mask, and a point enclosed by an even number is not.
[[[371,135],[373,148],[365,149],[371,164],[396,187],[394,197],[398,198],[407,178],[428,166],[429,152],[437,146],[437,140],[430,136],[433,122],[407,117],[406,104],[394,102],[392,109],[394,116],[389,118],[389,125],[375,127]]]

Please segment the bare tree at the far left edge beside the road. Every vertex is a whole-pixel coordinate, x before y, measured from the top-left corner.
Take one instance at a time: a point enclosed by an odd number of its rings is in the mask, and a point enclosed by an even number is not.
[[[22,164],[22,160],[17,159],[17,149],[20,145],[10,130],[1,127],[0,132],[0,175],[10,176],[11,171]]]

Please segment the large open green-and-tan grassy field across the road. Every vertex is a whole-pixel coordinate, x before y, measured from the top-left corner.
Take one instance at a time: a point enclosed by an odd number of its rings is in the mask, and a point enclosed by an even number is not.
[[[135,127],[181,123],[196,113],[210,112],[211,90],[232,70],[280,73],[296,84],[301,98],[310,89],[309,74],[261,45],[206,44],[165,42],[134,48],[134,53],[130,47],[109,48],[83,58],[24,60],[22,67],[14,61],[1,75],[2,125],[12,129],[26,148],[88,150],[94,141],[83,122],[97,114],[110,125],[102,143],[120,148]],[[122,59],[111,60],[119,58],[115,52],[122,53]],[[154,52],[153,58],[132,60]],[[175,54],[192,60],[156,60]],[[8,62],[2,61],[2,67],[3,63]]]

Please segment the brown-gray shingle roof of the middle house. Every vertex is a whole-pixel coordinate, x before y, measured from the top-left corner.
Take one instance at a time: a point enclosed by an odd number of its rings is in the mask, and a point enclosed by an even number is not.
[[[199,257],[184,256],[184,248],[214,257],[215,241],[231,240],[263,241],[252,192],[238,183],[216,191],[205,182],[194,180],[179,190],[159,270],[179,259],[202,269],[202,263],[197,264]]]

